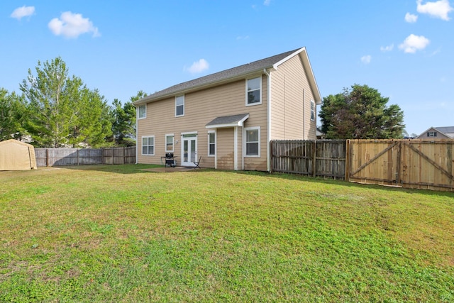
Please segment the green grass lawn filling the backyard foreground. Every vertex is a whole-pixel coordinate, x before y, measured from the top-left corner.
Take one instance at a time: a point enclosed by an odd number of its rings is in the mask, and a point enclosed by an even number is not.
[[[0,302],[453,302],[454,194],[150,165],[0,172]]]

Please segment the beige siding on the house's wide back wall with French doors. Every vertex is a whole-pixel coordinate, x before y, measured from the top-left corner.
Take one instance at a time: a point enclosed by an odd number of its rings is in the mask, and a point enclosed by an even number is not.
[[[251,77],[258,77],[252,75]],[[249,77],[248,77],[249,78]],[[189,94],[184,94],[184,116],[175,117],[175,97],[153,101],[147,104],[147,118],[138,120],[138,150],[141,150],[142,136],[155,136],[155,156],[143,156],[138,153],[139,163],[160,164],[160,157],[165,155],[165,134],[175,135],[175,155],[177,165],[181,160],[181,133],[197,133],[197,158],[202,156],[201,167],[214,167],[214,157],[208,157],[208,131],[206,123],[219,116],[230,116],[235,114],[249,114],[249,119],[244,123],[245,127],[260,126],[262,128],[261,150],[262,160],[265,167],[257,165],[258,159],[245,158],[245,163],[252,167],[261,167],[266,170],[266,127],[267,127],[267,77],[262,75],[262,104],[245,106],[245,81],[242,79],[236,82],[223,84],[218,87],[211,87]],[[233,128],[230,128],[232,136],[231,143],[233,152]],[[243,128],[238,127],[238,169],[241,169],[242,160],[240,151],[243,145]],[[226,135],[223,129],[216,132],[216,151],[218,168],[221,162],[219,149],[220,144]],[[230,136],[230,135],[229,135]],[[177,142],[178,141],[178,142]],[[226,153],[226,151],[224,152]],[[249,164],[250,162],[250,164]],[[232,158],[233,163],[233,158]],[[233,169],[228,168],[228,169]]]

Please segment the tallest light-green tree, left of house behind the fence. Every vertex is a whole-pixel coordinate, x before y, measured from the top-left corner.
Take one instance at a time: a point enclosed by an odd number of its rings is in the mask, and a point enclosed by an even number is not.
[[[70,77],[60,57],[43,64],[38,61],[35,71],[36,76],[28,70],[20,85],[30,113],[26,127],[35,145],[104,144],[111,136],[104,97],[87,89],[79,77]]]

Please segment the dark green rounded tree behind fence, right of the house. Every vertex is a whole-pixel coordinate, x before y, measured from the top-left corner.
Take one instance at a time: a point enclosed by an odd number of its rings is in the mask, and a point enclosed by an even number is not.
[[[354,84],[351,89],[323,98],[321,131],[329,139],[402,138],[404,113],[377,89]]]

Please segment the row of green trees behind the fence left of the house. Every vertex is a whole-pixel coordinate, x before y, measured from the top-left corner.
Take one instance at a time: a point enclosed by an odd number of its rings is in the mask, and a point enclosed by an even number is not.
[[[122,104],[109,105],[98,89],[70,76],[61,57],[39,62],[19,84],[21,94],[0,88],[0,141],[31,138],[36,147],[135,145],[135,107],[139,91]]]

